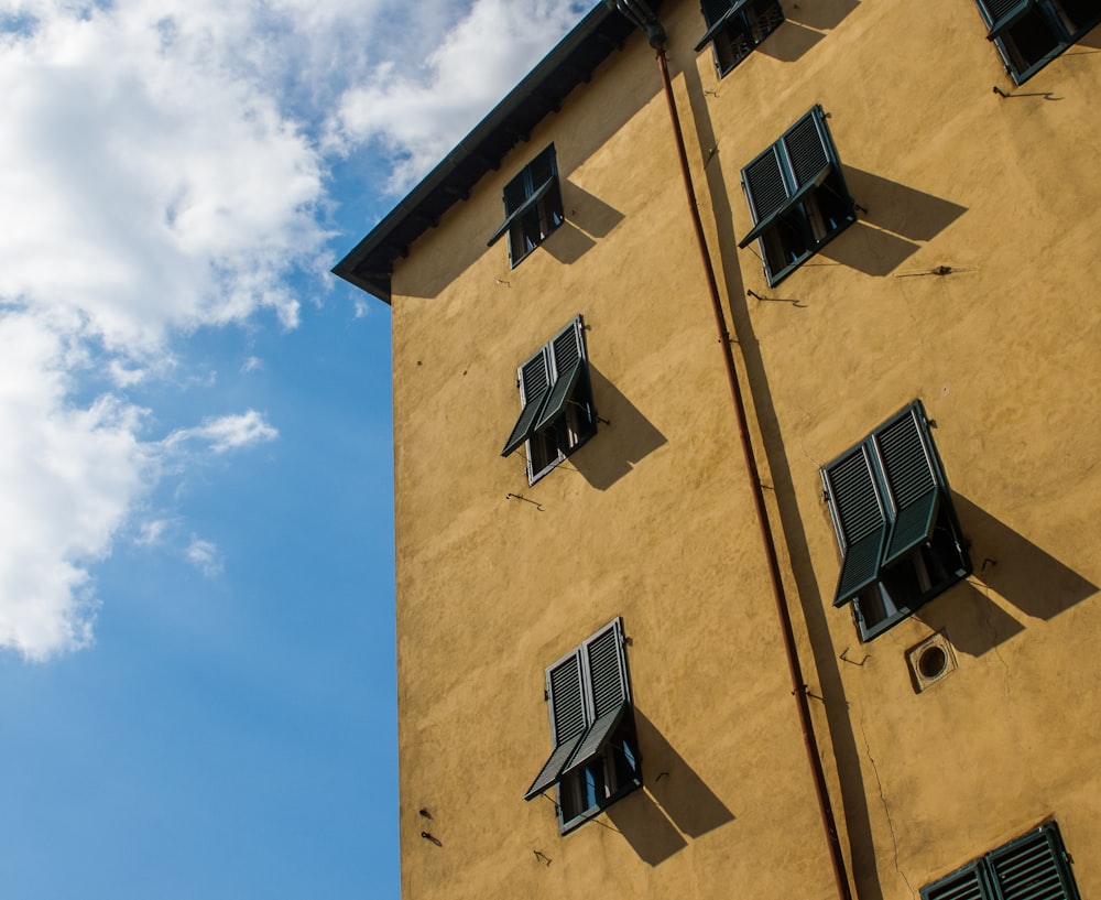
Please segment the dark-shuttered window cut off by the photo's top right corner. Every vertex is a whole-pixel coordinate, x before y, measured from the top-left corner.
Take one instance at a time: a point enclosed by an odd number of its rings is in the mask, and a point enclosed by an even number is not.
[[[975,0],[975,6],[988,28],[986,40],[998,48],[1005,71],[1016,85],[1027,82],[1101,24],[1101,10],[1086,17],[1082,24],[1072,22],[1065,0]],[[1026,57],[1013,34],[1017,25],[1026,23],[1033,28],[1032,34],[1036,24],[1046,26],[1053,39],[1049,48],[1034,61]]]

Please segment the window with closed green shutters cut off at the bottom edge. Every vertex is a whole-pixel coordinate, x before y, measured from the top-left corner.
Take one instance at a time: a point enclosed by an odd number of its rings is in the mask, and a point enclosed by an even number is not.
[[[1059,825],[1028,834],[922,888],[922,900],[1079,900]]]

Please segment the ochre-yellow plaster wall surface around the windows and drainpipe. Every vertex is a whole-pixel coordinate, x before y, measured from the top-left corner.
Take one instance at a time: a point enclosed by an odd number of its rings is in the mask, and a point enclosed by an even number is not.
[[[1101,896],[1101,34],[1013,88],[971,0],[784,6],[722,79],[691,51],[697,4],[663,20],[852,883],[914,897],[1054,816]],[[860,221],[768,288],[737,249],[739,172],[816,102]],[[511,269],[486,240],[550,141],[567,223]],[[406,900],[835,897],[645,42],[393,288]],[[516,367],[578,313],[604,421],[528,486],[523,452],[500,457]],[[974,574],[861,643],[831,607],[819,468],[914,399]],[[615,616],[645,789],[562,837],[550,802],[522,799],[550,749],[544,669]],[[906,651],[938,631],[957,669],[918,694]]]

